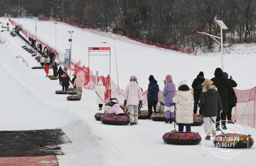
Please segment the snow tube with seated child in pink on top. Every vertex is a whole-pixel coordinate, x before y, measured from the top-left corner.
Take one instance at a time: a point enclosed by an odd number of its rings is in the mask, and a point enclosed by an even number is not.
[[[108,125],[128,125],[130,123],[129,117],[112,115],[112,114],[103,115],[100,121],[103,124],[108,124]]]

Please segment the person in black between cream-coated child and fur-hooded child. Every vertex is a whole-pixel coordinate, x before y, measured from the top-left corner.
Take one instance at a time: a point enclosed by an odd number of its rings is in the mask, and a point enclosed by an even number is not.
[[[204,72],[199,72],[192,83],[192,88],[194,89],[194,116],[197,114],[199,98],[202,93],[202,83],[204,83],[204,80]],[[202,114],[202,108],[199,109],[199,114]]]

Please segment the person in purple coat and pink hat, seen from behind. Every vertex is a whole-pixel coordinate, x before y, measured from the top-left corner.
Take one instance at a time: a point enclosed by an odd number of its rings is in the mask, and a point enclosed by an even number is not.
[[[164,114],[166,118],[165,123],[172,123],[174,119],[174,110],[175,110],[175,103],[172,101],[172,98],[175,96],[176,87],[175,84],[172,82],[172,76],[166,75],[166,85],[162,91],[164,95]]]

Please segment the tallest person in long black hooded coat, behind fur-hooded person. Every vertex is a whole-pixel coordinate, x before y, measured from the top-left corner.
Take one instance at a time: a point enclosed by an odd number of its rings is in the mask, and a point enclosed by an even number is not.
[[[225,123],[227,119],[228,113],[228,101],[231,97],[230,90],[232,86],[227,78],[223,77],[223,71],[221,68],[215,69],[214,76],[211,80],[213,84],[217,87],[218,93],[221,96],[221,103],[222,103],[222,113],[221,113],[221,126],[222,129],[227,129]],[[216,121],[220,120],[219,116],[217,116]],[[216,129],[219,129],[219,123],[216,124]]]

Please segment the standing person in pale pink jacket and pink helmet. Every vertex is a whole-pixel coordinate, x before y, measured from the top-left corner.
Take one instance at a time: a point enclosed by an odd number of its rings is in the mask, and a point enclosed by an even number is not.
[[[130,125],[138,124],[139,106],[142,106],[142,92],[141,87],[137,83],[137,77],[131,76],[130,83],[125,89],[125,102],[129,105]]]

